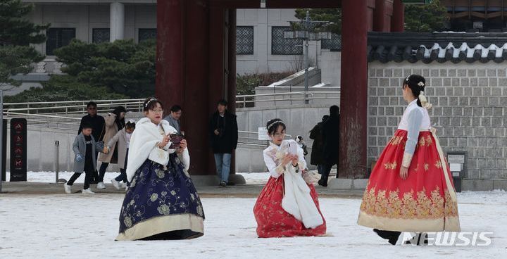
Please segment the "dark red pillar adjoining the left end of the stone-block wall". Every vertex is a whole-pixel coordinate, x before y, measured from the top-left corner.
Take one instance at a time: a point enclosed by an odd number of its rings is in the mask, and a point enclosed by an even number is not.
[[[342,1],[342,95],[339,177],[366,175],[367,0]]]

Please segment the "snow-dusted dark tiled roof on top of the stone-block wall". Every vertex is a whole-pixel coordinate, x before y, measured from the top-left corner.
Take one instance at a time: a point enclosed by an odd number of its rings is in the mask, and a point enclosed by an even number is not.
[[[507,33],[370,32],[368,61],[468,63],[507,60]]]

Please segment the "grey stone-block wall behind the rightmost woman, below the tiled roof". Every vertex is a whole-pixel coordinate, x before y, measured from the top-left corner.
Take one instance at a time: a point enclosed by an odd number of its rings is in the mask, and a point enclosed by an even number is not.
[[[493,62],[370,63],[368,165],[396,130],[406,107],[401,82],[414,73],[426,78],[430,117],[444,152],[467,153],[468,179],[507,179],[506,72],[506,63]]]

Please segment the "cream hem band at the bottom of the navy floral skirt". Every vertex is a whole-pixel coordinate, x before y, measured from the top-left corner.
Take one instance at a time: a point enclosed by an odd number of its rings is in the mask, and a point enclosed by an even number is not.
[[[116,236],[117,241],[144,239],[148,236],[175,230],[190,229],[193,232],[204,233],[204,220],[192,214],[165,215],[154,217],[125,230]]]

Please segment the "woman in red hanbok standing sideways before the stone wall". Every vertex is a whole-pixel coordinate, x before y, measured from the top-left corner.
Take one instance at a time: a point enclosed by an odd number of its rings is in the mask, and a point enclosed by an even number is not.
[[[358,225],[372,227],[390,244],[415,232],[411,244],[427,244],[425,232],[459,232],[458,205],[449,166],[431,127],[425,78],[403,81],[408,107],[398,130],[373,168]]]

